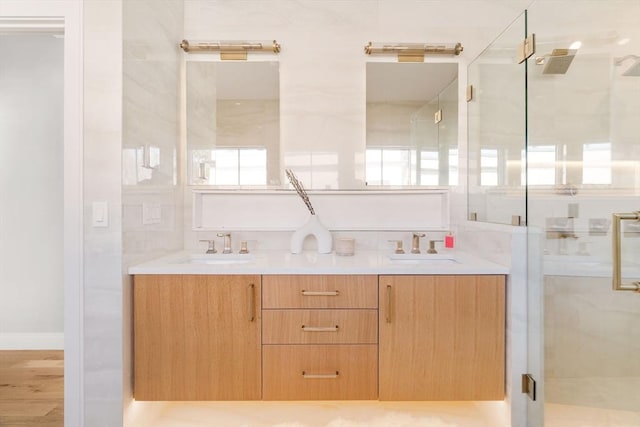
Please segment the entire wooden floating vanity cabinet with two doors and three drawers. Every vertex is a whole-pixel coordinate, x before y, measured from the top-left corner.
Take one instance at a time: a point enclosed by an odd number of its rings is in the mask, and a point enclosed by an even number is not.
[[[503,400],[503,275],[136,275],[137,400]]]

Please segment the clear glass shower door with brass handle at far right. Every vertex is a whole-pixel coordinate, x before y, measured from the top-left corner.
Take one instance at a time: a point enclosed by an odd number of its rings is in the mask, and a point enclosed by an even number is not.
[[[542,307],[544,426],[637,426],[640,2],[536,2],[527,13],[537,45],[527,65],[529,268],[541,268],[529,287]],[[616,278],[629,290],[614,290]]]

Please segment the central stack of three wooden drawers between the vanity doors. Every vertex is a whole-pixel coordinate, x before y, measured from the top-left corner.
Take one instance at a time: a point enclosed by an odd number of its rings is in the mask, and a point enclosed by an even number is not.
[[[376,399],[377,276],[262,280],[263,399]]]

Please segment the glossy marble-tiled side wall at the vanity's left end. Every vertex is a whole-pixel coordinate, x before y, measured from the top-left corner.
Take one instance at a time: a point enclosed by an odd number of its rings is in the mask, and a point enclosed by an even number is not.
[[[180,170],[180,82],[184,2],[125,0],[122,6],[122,254],[121,270],[184,246]],[[144,147],[144,149],[142,149]],[[144,150],[149,150],[146,153]],[[153,161],[151,156],[153,153]],[[156,157],[157,156],[157,157]],[[149,163],[149,164],[143,164]],[[144,166],[153,166],[153,169]],[[157,209],[149,222],[145,209]],[[109,426],[135,425],[132,410],[132,286],[121,273],[120,407]],[[105,407],[104,411],[110,410]],[[98,421],[96,421],[98,422]],[[91,424],[94,425],[94,424]],[[99,425],[99,424],[95,424]]]

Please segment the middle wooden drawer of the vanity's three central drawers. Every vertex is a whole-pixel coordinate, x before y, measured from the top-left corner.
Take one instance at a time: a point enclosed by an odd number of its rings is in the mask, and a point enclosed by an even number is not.
[[[263,344],[376,344],[378,310],[264,310]]]

